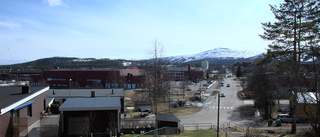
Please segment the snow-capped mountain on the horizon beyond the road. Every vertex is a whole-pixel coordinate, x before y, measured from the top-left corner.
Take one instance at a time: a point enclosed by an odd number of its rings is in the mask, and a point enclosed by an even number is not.
[[[192,62],[202,59],[212,60],[212,59],[255,59],[256,57],[261,56],[262,53],[253,52],[253,51],[238,51],[231,50],[228,48],[216,48],[213,50],[207,50],[201,53],[192,54],[192,55],[180,55],[166,57],[165,60],[171,63],[183,63],[183,62]]]

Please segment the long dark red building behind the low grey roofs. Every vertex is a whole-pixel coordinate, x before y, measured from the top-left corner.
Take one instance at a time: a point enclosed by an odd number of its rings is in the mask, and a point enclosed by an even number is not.
[[[142,88],[144,71],[127,70],[48,70],[32,75],[31,85],[47,84],[53,89],[68,88]]]

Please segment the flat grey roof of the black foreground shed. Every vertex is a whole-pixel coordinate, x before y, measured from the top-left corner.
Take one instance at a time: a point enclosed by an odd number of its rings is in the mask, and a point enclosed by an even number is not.
[[[60,107],[60,111],[84,110],[120,110],[119,97],[68,98]]]

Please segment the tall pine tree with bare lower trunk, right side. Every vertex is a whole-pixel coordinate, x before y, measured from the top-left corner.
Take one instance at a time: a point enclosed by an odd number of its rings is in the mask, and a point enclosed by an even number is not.
[[[310,18],[312,16],[310,9],[318,10],[318,5],[312,4],[311,1],[314,0],[285,0],[280,7],[270,5],[277,21],[262,23],[264,34],[260,35],[262,39],[272,41],[267,59],[280,60],[291,66],[287,71],[290,79],[288,86],[293,88],[294,93],[291,128],[293,134],[296,133],[297,92],[301,89],[299,79],[301,59],[308,51],[307,41],[314,38],[310,37],[314,35],[310,30],[315,28]]]

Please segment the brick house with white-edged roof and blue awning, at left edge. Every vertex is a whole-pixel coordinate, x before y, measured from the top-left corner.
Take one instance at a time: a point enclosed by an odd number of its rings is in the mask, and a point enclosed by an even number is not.
[[[46,110],[49,87],[0,87],[0,137],[26,136]]]

